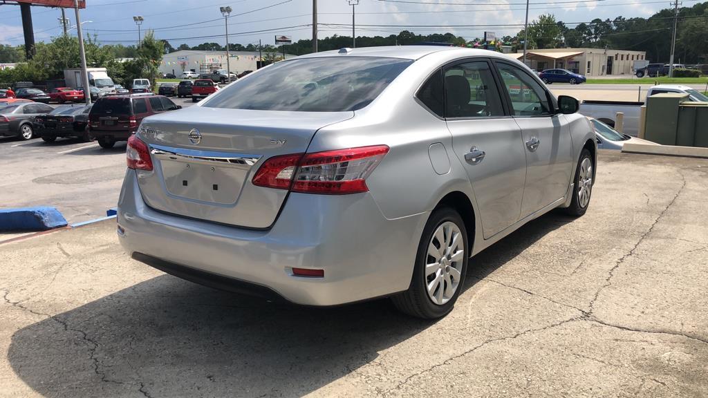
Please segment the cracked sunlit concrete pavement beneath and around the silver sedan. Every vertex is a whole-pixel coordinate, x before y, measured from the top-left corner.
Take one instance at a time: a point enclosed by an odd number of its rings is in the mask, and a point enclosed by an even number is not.
[[[708,397],[708,160],[604,152],[438,322],[204,288],[114,229],[0,245],[0,397]]]

